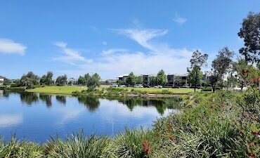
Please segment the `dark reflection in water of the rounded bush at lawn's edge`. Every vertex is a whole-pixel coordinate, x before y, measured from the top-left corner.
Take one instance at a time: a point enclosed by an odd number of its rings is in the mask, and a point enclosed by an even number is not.
[[[82,103],[90,112],[95,112],[100,105],[99,99],[96,97],[80,96],[77,100],[79,100],[79,103]]]

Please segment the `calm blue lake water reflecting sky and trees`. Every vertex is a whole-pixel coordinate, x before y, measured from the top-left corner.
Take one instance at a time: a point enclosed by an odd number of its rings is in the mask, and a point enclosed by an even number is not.
[[[0,136],[45,142],[50,136],[84,131],[112,136],[125,127],[145,129],[170,110],[165,99],[91,98],[0,90]]]

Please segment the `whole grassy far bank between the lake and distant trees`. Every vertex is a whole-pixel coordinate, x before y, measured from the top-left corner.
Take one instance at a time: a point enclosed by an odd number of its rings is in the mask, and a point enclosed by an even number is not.
[[[79,96],[141,96],[141,97],[174,97],[193,92],[192,88],[133,88],[100,86],[95,91],[87,91],[85,86],[44,86],[25,90],[34,93],[74,94]],[[197,90],[200,91],[200,90]]]

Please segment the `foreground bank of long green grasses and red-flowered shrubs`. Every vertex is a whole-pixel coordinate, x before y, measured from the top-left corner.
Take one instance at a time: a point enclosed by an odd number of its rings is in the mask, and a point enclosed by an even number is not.
[[[260,93],[219,91],[182,96],[183,112],[153,129],[126,130],[112,138],[83,134],[46,144],[13,139],[0,157],[259,157]]]

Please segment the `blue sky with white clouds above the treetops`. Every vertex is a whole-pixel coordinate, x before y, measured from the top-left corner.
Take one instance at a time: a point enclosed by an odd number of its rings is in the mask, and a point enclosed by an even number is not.
[[[223,46],[237,53],[240,23],[259,6],[258,0],[0,1],[0,75],[183,74],[196,49],[209,54],[209,66]]]

